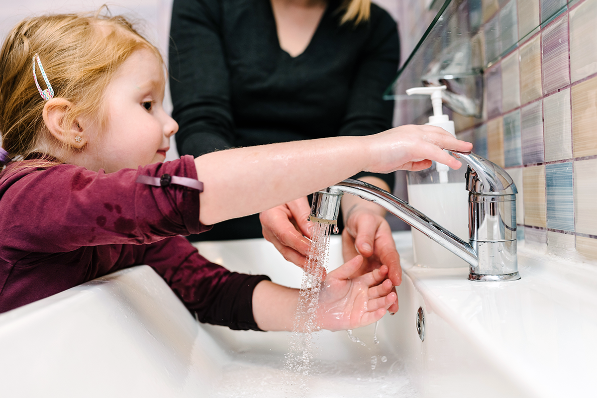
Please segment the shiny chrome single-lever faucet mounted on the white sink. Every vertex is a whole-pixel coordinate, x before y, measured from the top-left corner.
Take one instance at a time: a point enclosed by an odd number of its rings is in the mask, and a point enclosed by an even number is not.
[[[475,153],[452,152],[468,164],[469,243],[404,200],[371,184],[344,180],[313,195],[309,220],[336,224],[340,198],[350,193],[377,203],[470,264],[470,280],[520,279],[516,259],[516,185],[503,168]]]

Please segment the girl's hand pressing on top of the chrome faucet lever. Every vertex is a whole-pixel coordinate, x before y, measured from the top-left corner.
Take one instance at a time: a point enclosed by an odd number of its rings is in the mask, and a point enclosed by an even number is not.
[[[442,128],[404,125],[375,135],[371,142],[370,168],[365,171],[388,173],[399,169],[419,171],[437,161],[458,169],[461,163],[443,149],[470,152],[473,144],[460,141]]]

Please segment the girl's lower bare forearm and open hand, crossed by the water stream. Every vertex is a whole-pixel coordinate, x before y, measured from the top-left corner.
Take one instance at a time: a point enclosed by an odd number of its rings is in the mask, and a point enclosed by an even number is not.
[[[381,266],[359,277],[350,276],[361,267],[357,256],[331,271],[322,282],[319,312],[321,329],[355,329],[380,320],[396,302],[387,267]],[[291,331],[298,304],[298,289],[286,288],[264,280],[253,291],[253,316],[266,331]]]

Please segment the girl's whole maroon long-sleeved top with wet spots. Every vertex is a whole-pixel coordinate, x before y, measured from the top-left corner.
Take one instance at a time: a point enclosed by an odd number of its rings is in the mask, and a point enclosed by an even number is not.
[[[0,174],[0,313],[127,267],[152,267],[201,322],[259,329],[253,289],[267,276],[230,272],[181,235],[199,223],[199,190],[136,183],[197,178],[192,156],[106,174],[10,162]]]

